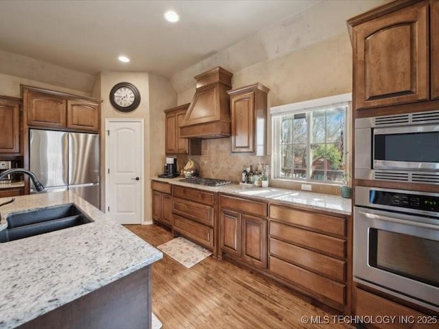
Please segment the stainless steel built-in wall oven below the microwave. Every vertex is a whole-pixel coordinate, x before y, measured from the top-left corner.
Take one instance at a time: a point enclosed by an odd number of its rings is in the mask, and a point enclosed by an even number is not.
[[[356,282],[439,310],[439,193],[357,186]]]

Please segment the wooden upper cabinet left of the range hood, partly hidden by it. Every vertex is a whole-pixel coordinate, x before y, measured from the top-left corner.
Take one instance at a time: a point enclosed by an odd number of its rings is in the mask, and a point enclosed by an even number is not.
[[[185,119],[189,103],[165,110],[165,153],[166,154],[201,154],[201,140],[180,137],[180,125]]]

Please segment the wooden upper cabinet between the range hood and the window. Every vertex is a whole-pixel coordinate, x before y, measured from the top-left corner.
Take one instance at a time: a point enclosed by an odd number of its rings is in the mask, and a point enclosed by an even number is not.
[[[263,84],[229,90],[232,153],[265,156],[267,147],[267,93]]]

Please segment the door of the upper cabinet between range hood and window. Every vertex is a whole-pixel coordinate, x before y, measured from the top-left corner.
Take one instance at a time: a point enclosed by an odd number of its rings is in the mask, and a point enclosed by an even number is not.
[[[254,152],[254,92],[230,99],[232,152]]]

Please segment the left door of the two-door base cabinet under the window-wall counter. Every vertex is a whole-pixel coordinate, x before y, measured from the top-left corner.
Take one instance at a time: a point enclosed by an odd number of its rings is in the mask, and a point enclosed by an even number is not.
[[[241,257],[241,214],[231,210],[221,210],[219,221],[219,247],[230,256]]]

